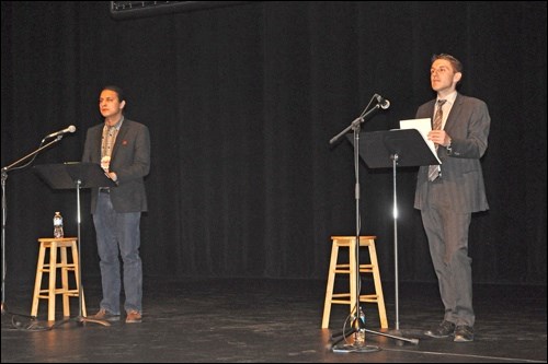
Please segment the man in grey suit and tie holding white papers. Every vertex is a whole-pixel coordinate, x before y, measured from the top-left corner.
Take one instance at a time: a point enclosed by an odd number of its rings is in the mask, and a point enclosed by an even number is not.
[[[430,78],[437,97],[421,105],[416,118],[439,116],[441,127],[429,139],[442,164],[420,167],[414,208],[421,210],[445,315],[425,334],[468,342],[473,341],[476,319],[468,230],[472,212],[489,209],[480,158],[488,146],[491,118],[484,102],[457,92],[463,64],[455,57],[435,55]]]

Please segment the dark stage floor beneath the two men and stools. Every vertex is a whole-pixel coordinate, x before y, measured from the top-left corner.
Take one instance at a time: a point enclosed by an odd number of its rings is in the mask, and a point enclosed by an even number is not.
[[[320,281],[148,279],[144,321],[110,327],[82,324],[78,298],[69,320],[58,302],[58,320],[48,325],[45,301],[33,320],[32,287],[20,287],[4,294],[2,363],[546,363],[546,286],[475,286],[476,340],[455,343],[422,334],[442,319],[434,284],[399,284],[398,322],[396,287],[384,284],[389,329],[381,332],[375,304],[362,304],[368,328],[357,352],[344,342],[333,350],[330,340],[347,306],[333,305],[330,329],[320,328]],[[100,289],[88,284],[84,293],[93,314]]]

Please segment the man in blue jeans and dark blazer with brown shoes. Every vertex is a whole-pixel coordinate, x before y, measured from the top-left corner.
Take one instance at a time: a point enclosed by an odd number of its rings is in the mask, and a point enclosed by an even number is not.
[[[91,213],[101,259],[103,298],[92,318],[115,321],[121,316],[124,269],[126,322],[140,322],[142,315],[142,266],[139,256],[140,216],[147,211],[144,178],[150,171],[148,128],[124,118],[126,101],[117,86],[106,86],[99,98],[104,122],[85,136],[82,162],[101,164],[115,187],[91,190]]]

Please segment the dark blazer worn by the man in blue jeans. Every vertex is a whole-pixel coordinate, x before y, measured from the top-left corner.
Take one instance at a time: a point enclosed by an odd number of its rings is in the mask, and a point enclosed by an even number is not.
[[[82,162],[101,164],[101,139],[104,124],[91,127],[85,134]],[[147,211],[145,176],[150,171],[150,136],[139,122],[124,119],[111,155],[110,169],[117,186],[111,187],[111,200],[117,212]],[[99,189],[91,189],[91,213],[95,212]]]

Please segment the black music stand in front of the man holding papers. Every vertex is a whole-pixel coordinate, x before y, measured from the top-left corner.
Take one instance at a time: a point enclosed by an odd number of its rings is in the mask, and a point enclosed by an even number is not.
[[[352,139],[349,137],[352,142]],[[365,132],[359,140],[359,156],[369,168],[392,167],[393,177],[393,260],[396,285],[396,332],[399,333],[398,294],[398,202],[396,190],[396,169],[421,165],[441,164],[437,155],[430,149],[416,129],[392,129]]]

